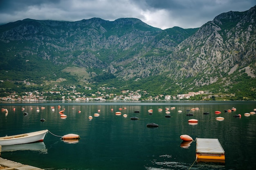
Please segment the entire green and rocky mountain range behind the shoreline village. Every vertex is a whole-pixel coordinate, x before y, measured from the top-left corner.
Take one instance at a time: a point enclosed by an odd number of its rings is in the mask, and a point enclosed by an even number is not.
[[[162,30],[137,18],[19,20],[0,26],[0,60],[4,91],[27,80],[255,100],[256,6],[194,29]]]

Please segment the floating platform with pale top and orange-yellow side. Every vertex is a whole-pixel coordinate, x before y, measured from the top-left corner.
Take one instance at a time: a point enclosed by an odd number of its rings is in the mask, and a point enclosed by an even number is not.
[[[225,151],[218,139],[197,138],[195,157],[198,162],[225,163]]]

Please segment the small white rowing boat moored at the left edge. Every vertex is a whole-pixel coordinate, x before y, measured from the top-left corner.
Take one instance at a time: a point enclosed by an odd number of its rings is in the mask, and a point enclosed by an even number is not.
[[[40,130],[20,135],[0,137],[0,145],[5,146],[41,142],[45,138],[47,132],[48,130]]]

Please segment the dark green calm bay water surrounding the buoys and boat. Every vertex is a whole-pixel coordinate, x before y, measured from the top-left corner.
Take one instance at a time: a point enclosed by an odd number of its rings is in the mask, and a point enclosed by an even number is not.
[[[256,115],[244,116],[256,108],[256,102],[14,102],[0,103],[0,107],[9,110],[8,115],[0,114],[0,136],[44,129],[58,136],[80,135],[79,142],[72,144],[47,133],[44,142],[2,146],[2,158],[46,170],[256,169]],[[171,117],[166,118],[165,108],[171,107],[175,109],[170,109]],[[191,111],[196,107],[200,109]],[[236,112],[224,112],[232,107]],[[59,114],[63,108],[66,119]],[[152,115],[148,109],[153,109]],[[137,110],[139,113],[134,112]],[[221,113],[216,115],[216,110]],[[117,111],[122,115],[115,115]],[[24,116],[24,112],[28,115]],[[94,117],[94,113],[100,116]],[[194,115],[186,116],[187,113]],[[124,114],[128,116],[123,117]],[[242,117],[233,117],[236,114]],[[90,115],[92,120],[88,119]],[[133,116],[139,120],[131,120]],[[225,120],[217,121],[215,118],[219,116]],[[46,121],[41,122],[41,118]],[[198,124],[188,124],[189,119],[198,119]],[[159,127],[147,128],[148,123]],[[225,150],[225,164],[194,163],[196,142],[181,147],[183,134],[194,140],[218,138]]]

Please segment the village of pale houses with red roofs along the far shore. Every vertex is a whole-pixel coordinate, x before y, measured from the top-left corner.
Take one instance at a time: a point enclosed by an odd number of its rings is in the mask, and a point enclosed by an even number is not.
[[[29,82],[24,82],[27,86],[30,86]],[[87,91],[95,91],[91,87],[85,86]],[[111,92],[115,87],[99,87],[96,91],[92,92],[89,95],[86,93],[81,93],[76,90],[76,86],[70,86],[68,89],[63,87],[53,87],[52,91],[31,91],[24,92],[23,95],[18,95],[16,92],[7,93],[7,96],[0,97],[0,101],[52,101],[52,100],[61,100],[61,101],[106,101],[106,100],[125,100],[125,101],[139,101],[139,100],[182,100],[189,99],[195,95],[202,95],[204,91],[198,92],[189,92],[188,94],[179,94],[177,96],[171,95],[157,95],[150,96],[147,91],[130,91],[124,90],[121,91],[121,95],[117,95]],[[141,99],[142,95],[147,95],[145,99]],[[55,96],[55,97],[54,97]],[[57,96],[57,99],[56,99]]]

